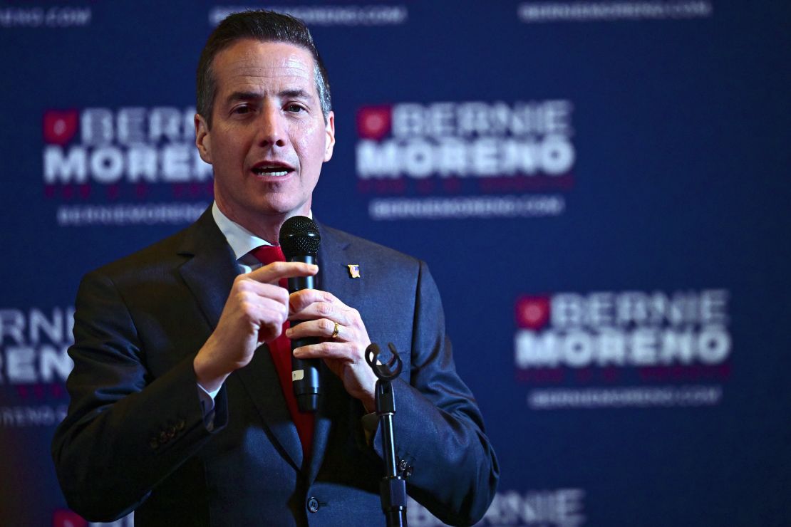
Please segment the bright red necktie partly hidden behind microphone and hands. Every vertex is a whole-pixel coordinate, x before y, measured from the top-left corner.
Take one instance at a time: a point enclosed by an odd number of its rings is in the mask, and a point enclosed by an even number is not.
[[[255,256],[263,265],[272,262],[286,262],[286,258],[283,257],[283,251],[279,246],[262,245],[250,251],[250,254]],[[288,288],[288,280],[286,278],[282,278],[279,284],[282,288]],[[280,386],[283,390],[283,396],[286,397],[286,406],[289,407],[291,419],[297,425],[297,433],[302,442],[302,455],[307,459],[313,444],[314,416],[313,412],[301,412],[297,407],[297,398],[294,397],[294,390],[291,385],[291,340],[286,337],[286,329],[289,327],[289,321],[283,322],[283,331],[280,333],[280,337],[267,344],[272,355],[272,362],[274,362],[274,367],[278,371],[278,377],[280,377]]]

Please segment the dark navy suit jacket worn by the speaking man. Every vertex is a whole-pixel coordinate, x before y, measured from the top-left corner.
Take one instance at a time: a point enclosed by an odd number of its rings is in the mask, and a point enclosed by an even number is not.
[[[358,309],[371,341],[392,342],[403,358],[395,438],[412,467],[409,494],[445,522],[474,522],[494,497],[498,465],[456,375],[426,265],[320,232],[320,288]],[[347,264],[360,265],[361,278],[350,278]],[[324,364],[308,459],[265,346],[225,381],[214,431],[206,429],[192,360],[238,273],[209,210],[82,280],[71,405],[52,446],[67,503],[93,521],[135,510],[137,525],[384,524],[380,433],[368,446],[362,405]]]

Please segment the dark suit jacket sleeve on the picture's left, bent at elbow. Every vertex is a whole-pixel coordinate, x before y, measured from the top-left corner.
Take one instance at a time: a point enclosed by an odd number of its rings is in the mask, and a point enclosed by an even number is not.
[[[52,442],[55,471],[70,508],[112,521],[210,438],[192,356],[153,378],[122,295],[97,272],[80,284],[69,355],[71,403]],[[227,418],[224,391],[215,401],[215,431]]]

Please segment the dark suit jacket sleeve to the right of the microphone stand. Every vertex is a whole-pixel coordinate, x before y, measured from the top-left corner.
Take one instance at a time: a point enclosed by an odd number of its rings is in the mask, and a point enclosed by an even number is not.
[[[441,299],[420,262],[409,382],[393,382],[396,456],[409,494],[441,521],[472,525],[486,513],[499,480],[497,457],[475,398],[453,363]],[[373,439],[381,455],[381,431]],[[398,461],[397,460],[397,461]]]

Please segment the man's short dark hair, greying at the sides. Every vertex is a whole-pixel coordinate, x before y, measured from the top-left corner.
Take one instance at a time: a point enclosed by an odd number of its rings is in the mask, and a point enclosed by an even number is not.
[[[324,68],[324,62],[321,60],[308,28],[295,17],[262,9],[229,15],[220,22],[217,28],[214,28],[209,40],[206,40],[206,46],[203,47],[198,61],[195,92],[197,95],[196,109],[206,119],[207,126],[211,127],[214,96],[217,92],[217,79],[214,78],[212,70],[214,57],[226,47],[244,39],[292,43],[310,51],[313,61],[316,62],[313,72],[316,77],[316,91],[319,93],[324,120],[327,120],[332,109],[330,82],[327,80],[327,69]]]

